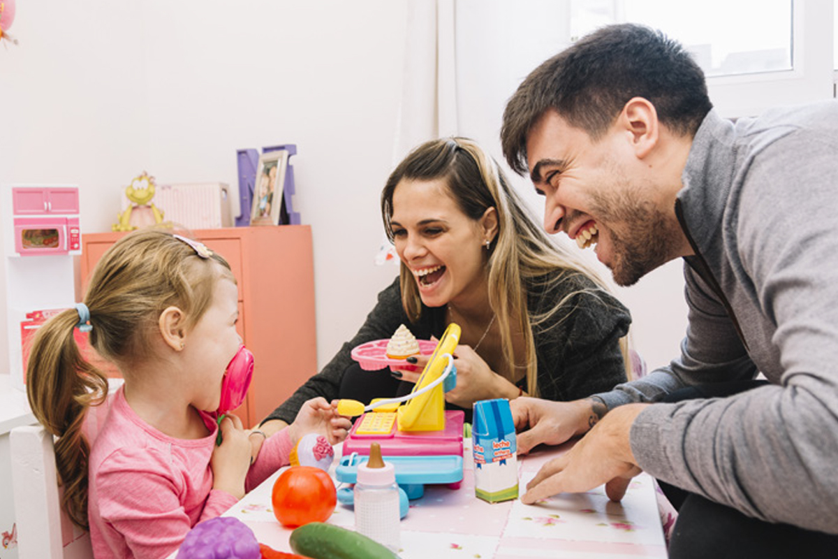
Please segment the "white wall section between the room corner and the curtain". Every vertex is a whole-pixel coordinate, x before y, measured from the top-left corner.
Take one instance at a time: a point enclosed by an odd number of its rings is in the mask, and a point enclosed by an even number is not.
[[[150,163],[158,179],[236,184],[235,150],[297,144],[293,200],[312,225],[318,363],[360,326],[391,169],[406,5],[147,3]],[[151,170],[151,169],[150,169]],[[282,320],[282,317],[277,317]],[[313,371],[314,372],[314,371]]]

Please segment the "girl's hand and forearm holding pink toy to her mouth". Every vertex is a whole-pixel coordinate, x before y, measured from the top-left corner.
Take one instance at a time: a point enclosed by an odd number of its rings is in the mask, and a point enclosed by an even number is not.
[[[212,468],[213,489],[220,489],[236,499],[245,496],[245,478],[251,467],[251,443],[241,419],[226,415],[219,425],[221,444],[215,447],[209,467]]]

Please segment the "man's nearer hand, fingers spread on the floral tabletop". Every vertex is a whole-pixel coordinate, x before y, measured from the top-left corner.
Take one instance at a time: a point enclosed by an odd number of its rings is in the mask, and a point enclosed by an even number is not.
[[[606,484],[609,499],[623,499],[629,481],[642,471],[634,461],[629,432],[646,406],[628,404],[609,411],[570,451],[541,467],[521,502],[532,505],[551,495],[582,493],[601,484]]]

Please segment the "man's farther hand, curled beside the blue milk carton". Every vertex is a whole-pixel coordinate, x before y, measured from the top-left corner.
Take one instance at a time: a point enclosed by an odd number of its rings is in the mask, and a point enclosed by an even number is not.
[[[587,432],[592,424],[591,417],[596,416],[593,406],[591,400],[549,401],[520,397],[510,401],[512,420],[518,432],[518,453],[529,453],[541,443],[561,444]]]

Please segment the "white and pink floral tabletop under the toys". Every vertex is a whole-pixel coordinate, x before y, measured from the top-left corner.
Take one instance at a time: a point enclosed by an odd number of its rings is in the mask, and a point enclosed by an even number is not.
[[[521,490],[543,463],[566,448],[545,448],[520,457]],[[337,463],[340,448],[335,450]],[[609,500],[599,487],[583,494],[556,495],[536,505],[524,505],[518,499],[489,504],[474,496],[468,441],[464,457],[463,483],[458,489],[429,485],[421,499],[411,501],[401,521],[402,559],[666,557],[654,479],[647,474],[632,481],[621,503]],[[245,521],[262,543],[290,551],[291,530],[282,527],[271,510],[277,476],[246,495],[226,515]],[[354,515],[351,508],[338,505],[328,522],[351,529]]]

